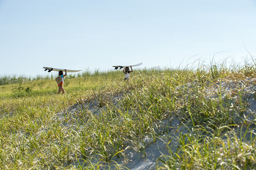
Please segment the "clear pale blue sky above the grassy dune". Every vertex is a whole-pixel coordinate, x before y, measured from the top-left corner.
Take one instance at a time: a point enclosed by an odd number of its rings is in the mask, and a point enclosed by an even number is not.
[[[255,57],[255,0],[0,0],[0,75],[241,62],[245,48]]]

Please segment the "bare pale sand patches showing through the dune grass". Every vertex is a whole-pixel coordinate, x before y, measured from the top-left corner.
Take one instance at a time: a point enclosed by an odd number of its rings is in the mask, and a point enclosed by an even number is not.
[[[256,79],[246,79],[237,82],[219,82],[215,86],[209,86],[209,88],[205,90],[205,96],[207,96],[209,99],[217,99],[217,97],[219,97],[217,94],[218,91],[220,90],[222,97],[224,97],[225,95],[232,95],[234,91],[242,91],[243,98],[244,100],[248,101],[249,106],[248,110],[244,114],[244,117],[248,121],[253,121],[255,120],[256,117],[256,100],[254,98],[256,88],[254,86],[254,82],[256,82]],[[191,85],[187,84],[186,86]],[[117,100],[121,99],[122,96],[123,95],[113,97],[113,103],[117,105]],[[234,95],[233,97],[234,100],[238,99],[237,95]],[[57,113],[55,118],[57,118],[60,122],[63,122],[63,125],[68,129],[72,128],[73,126],[76,127],[76,125],[70,125],[67,122],[65,122],[66,114],[72,116],[72,114],[78,112],[79,109],[85,108],[93,114],[100,114],[102,110],[104,110],[104,107],[98,108],[97,103],[95,103],[95,101],[92,101],[90,103],[86,103],[85,105],[75,105],[74,107],[71,107],[68,112]],[[190,120],[188,120],[188,122],[189,121]],[[188,122],[185,123],[186,126],[188,125]],[[239,122],[237,122],[237,124],[239,124]],[[158,130],[158,132],[160,132],[160,134],[162,135],[159,135],[155,142],[153,141],[152,138],[145,137],[143,139],[144,143],[141,143],[142,152],[138,152],[132,147],[127,147],[124,151],[125,158],[114,158],[114,161],[129,169],[154,169],[157,165],[158,159],[165,160],[165,158],[162,155],[169,155],[168,147],[171,148],[172,152],[175,152],[177,150],[178,141],[177,138],[175,137],[177,137],[179,133],[188,133],[189,129],[186,128],[184,124],[181,124],[181,118],[177,115],[174,115],[168,120],[163,120],[162,122],[158,123],[158,126],[161,126],[162,129],[160,128],[156,130]],[[163,133],[163,131],[168,132]],[[167,145],[170,139],[171,142],[169,143],[169,145]]]

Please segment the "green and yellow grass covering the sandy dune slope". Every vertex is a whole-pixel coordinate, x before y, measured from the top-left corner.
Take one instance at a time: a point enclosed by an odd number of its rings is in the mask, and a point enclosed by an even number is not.
[[[255,71],[136,68],[129,83],[84,71],[66,76],[65,95],[55,73],[2,76],[0,168],[254,169]]]

